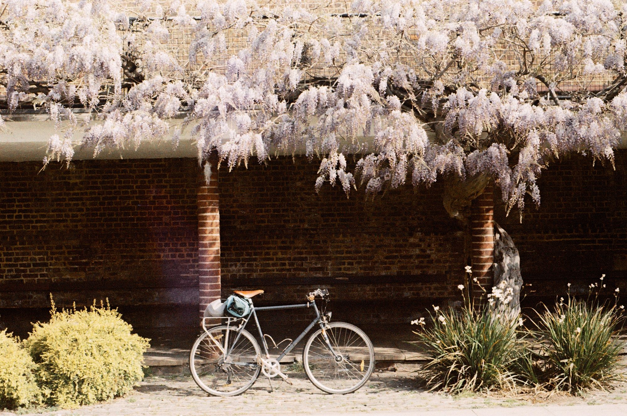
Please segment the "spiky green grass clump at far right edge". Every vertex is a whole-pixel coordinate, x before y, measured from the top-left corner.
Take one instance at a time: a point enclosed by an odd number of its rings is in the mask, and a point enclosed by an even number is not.
[[[618,289],[617,289],[618,291]],[[548,388],[579,394],[589,388],[607,388],[621,378],[619,328],[623,307],[575,299],[545,306],[537,336],[544,356]]]

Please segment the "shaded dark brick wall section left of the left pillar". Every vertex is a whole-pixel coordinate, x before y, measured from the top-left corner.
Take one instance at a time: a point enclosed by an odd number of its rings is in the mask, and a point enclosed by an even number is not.
[[[0,308],[46,308],[53,292],[60,305],[108,297],[140,326],[195,321],[196,161],[40,168],[0,163]]]

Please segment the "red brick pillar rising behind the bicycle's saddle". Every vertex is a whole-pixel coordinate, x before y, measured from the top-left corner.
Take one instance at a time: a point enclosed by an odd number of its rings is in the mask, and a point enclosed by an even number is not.
[[[210,158],[198,183],[198,292],[200,316],[220,297],[220,211],[217,161]],[[209,178],[207,183],[206,178]]]

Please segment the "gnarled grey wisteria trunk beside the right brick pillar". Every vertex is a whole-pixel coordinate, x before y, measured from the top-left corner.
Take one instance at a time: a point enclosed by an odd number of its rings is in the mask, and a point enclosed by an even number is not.
[[[520,314],[520,255],[512,237],[497,223],[494,223],[494,285],[512,288],[512,299],[505,303],[497,301],[496,310],[504,316],[517,319]]]

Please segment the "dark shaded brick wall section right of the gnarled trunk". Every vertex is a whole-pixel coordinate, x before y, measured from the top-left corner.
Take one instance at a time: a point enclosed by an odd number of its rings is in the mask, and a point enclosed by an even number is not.
[[[607,274],[608,287],[627,282],[627,151],[611,164],[593,167],[590,157],[574,155],[552,163],[539,180],[540,208],[531,202],[522,223],[502,203],[495,219],[520,251],[520,268],[530,297],[555,297],[566,284],[587,291]],[[497,200],[499,198],[496,198]],[[534,299],[530,299],[530,302]]]

